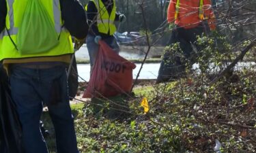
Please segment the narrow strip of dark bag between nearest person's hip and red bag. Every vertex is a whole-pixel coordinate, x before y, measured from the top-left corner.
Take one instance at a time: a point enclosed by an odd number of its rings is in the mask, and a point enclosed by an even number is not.
[[[68,94],[69,94],[70,100],[76,97],[78,88],[79,88],[79,75],[77,73],[76,57],[74,56],[74,60],[72,62],[72,67],[70,70],[70,75],[68,77]]]

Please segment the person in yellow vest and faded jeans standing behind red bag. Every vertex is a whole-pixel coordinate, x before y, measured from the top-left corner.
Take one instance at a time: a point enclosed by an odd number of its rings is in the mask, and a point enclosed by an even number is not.
[[[98,53],[99,39],[105,41],[117,54],[119,53],[119,44],[114,37],[115,31],[117,31],[114,22],[124,22],[126,16],[117,14],[115,0],[90,0],[85,6],[85,10],[89,24],[86,44],[92,67]]]

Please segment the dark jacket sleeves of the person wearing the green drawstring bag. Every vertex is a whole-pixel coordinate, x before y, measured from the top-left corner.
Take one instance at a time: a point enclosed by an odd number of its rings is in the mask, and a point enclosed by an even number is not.
[[[44,0],[45,1],[45,0]],[[64,27],[68,29],[70,35],[77,39],[83,39],[88,33],[87,18],[85,10],[78,0],[60,0],[61,17]],[[5,17],[7,5],[5,0],[0,0],[0,32],[5,28]]]

